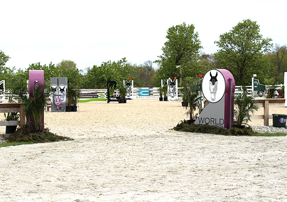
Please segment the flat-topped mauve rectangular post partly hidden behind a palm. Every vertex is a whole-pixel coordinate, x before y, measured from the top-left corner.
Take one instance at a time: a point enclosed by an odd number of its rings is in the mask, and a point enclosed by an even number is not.
[[[33,91],[44,85],[44,70],[29,70],[29,97],[33,97]],[[43,93],[44,88],[41,90]],[[32,117],[29,117],[29,122],[32,121]],[[42,114],[42,130],[44,130],[44,113]],[[30,124],[29,130],[35,129],[33,124]]]

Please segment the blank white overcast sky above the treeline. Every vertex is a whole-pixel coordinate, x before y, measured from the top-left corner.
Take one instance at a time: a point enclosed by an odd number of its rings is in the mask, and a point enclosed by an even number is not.
[[[0,0],[0,50],[6,66],[72,60],[79,69],[118,61],[155,61],[168,28],[193,24],[202,51],[245,19],[264,38],[287,44],[287,0]]]

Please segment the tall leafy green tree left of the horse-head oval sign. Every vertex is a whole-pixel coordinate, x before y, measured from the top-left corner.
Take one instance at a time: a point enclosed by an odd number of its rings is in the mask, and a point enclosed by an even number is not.
[[[198,65],[199,50],[202,48],[194,25],[186,25],[184,22],[173,26],[167,30],[166,38],[167,41],[161,48],[163,53],[159,56],[160,60],[156,61],[161,65],[158,78],[179,77],[177,65],[182,66],[184,77],[194,76],[193,70]]]

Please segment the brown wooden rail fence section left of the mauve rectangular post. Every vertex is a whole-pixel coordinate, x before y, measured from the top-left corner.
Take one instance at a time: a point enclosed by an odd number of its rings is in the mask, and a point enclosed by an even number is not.
[[[20,125],[21,128],[25,125],[25,110],[22,103],[0,103],[0,113],[19,112],[20,121],[0,121],[0,126]]]

